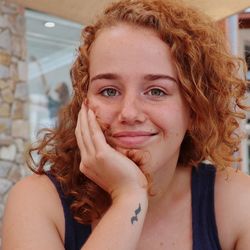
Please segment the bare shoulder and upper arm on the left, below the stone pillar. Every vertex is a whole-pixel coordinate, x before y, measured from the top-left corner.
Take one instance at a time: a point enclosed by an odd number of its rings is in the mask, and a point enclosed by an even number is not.
[[[28,176],[9,192],[3,250],[64,249],[63,225],[63,209],[53,183],[45,175]]]

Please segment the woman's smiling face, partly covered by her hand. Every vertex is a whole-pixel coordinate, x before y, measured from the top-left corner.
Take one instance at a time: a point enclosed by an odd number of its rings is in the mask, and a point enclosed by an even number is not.
[[[174,168],[189,123],[169,47],[152,30],[104,29],[90,50],[90,107],[114,147],[147,152],[147,171]]]

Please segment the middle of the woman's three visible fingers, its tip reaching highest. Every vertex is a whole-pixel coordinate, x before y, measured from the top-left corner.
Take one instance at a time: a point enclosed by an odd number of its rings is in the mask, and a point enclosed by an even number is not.
[[[80,112],[80,132],[83,139],[83,143],[86,149],[87,154],[95,154],[95,147],[93,140],[91,138],[90,126],[88,121],[87,108],[85,104],[82,104]]]

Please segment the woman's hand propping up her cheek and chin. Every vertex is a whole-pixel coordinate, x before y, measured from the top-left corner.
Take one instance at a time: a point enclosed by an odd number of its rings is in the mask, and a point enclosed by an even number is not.
[[[80,171],[112,199],[137,189],[147,192],[145,175],[133,161],[107,144],[94,112],[84,104],[75,134],[81,153]]]

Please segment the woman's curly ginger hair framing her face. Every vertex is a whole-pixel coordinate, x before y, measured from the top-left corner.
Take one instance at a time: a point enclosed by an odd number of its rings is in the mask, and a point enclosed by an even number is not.
[[[79,170],[80,152],[75,137],[78,113],[88,91],[91,44],[104,28],[119,23],[152,29],[170,47],[178,80],[187,101],[192,127],[181,145],[179,165],[197,166],[210,160],[217,168],[230,166],[241,140],[239,120],[247,109],[242,102],[247,81],[239,70],[243,60],[233,57],[223,32],[210,20],[174,0],[121,0],[111,4],[99,19],[85,27],[83,41],[71,68],[73,98],[60,112],[58,125],[44,129],[38,145],[30,149],[40,160],[29,166],[37,174],[51,173],[72,197],[71,210],[80,223],[100,218],[110,206],[109,194]],[[34,163],[34,161],[33,161]]]

